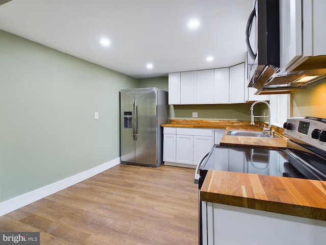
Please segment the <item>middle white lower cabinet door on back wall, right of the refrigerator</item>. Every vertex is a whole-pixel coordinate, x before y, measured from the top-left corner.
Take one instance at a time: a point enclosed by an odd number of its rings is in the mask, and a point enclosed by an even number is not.
[[[176,162],[193,164],[194,136],[177,135]]]

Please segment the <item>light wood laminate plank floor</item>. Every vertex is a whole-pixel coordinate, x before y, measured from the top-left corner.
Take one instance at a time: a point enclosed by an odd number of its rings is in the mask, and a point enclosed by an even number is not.
[[[198,244],[194,169],[119,164],[0,217],[41,244]]]

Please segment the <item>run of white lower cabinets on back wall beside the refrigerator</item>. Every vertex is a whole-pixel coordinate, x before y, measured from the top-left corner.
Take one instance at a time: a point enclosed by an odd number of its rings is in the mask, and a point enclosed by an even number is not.
[[[194,168],[213,146],[212,129],[164,127],[163,132],[163,161],[166,165]]]

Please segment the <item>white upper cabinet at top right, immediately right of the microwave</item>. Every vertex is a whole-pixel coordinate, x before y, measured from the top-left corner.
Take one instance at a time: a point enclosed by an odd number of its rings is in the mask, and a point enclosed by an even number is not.
[[[314,57],[326,55],[325,9],[325,0],[280,0],[281,71],[324,68],[324,57]]]

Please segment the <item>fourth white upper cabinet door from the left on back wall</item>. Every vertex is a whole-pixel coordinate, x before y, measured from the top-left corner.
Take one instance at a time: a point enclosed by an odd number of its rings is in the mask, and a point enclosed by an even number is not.
[[[214,69],[214,104],[229,104],[229,68]]]

